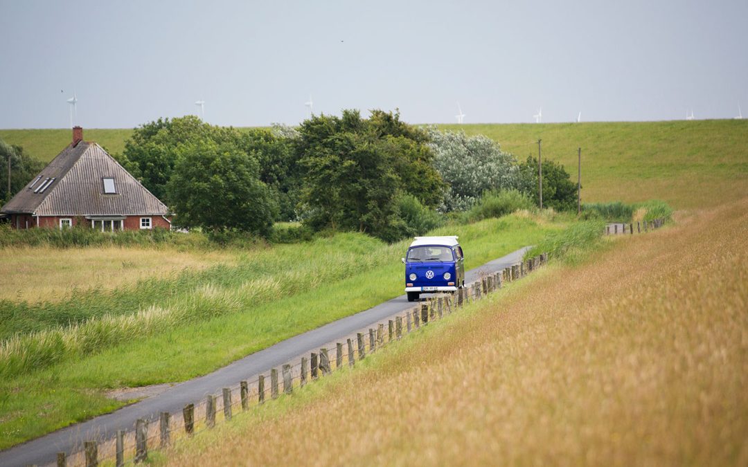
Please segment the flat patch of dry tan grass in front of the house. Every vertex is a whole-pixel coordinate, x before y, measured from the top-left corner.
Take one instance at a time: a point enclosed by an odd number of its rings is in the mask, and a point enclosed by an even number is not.
[[[0,250],[0,299],[61,300],[73,288],[111,290],[139,279],[164,277],[183,270],[199,270],[236,262],[221,251],[172,251],[138,247],[13,247]]]

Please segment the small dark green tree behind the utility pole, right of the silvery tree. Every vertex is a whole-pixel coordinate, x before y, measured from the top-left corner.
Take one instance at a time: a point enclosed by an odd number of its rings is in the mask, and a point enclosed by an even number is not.
[[[530,196],[535,205],[540,204],[538,184],[538,159],[529,156],[520,164],[520,190]],[[577,208],[577,184],[565,168],[550,159],[543,159],[543,207],[557,211],[571,211]]]

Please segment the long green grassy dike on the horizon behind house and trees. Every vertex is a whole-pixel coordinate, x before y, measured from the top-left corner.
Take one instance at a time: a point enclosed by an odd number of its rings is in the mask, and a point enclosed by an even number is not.
[[[497,140],[518,159],[560,161],[576,179],[582,148],[582,200],[659,198],[676,208],[717,205],[748,191],[748,120],[441,125]],[[85,129],[86,140],[121,152],[131,129]],[[70,141],[68,129],[0,130],[0,138],[49,161]]]

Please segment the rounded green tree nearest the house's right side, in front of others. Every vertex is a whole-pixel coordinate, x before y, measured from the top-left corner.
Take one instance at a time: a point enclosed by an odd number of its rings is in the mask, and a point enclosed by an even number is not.
[[[213,140],[184,143],[178,152],[167,185],[178,226],[270,234],[278,206],[260,181],[257,158]]]

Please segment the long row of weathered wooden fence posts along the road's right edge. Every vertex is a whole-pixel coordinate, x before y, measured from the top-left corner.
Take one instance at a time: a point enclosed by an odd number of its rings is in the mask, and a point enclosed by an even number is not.
[[[407,333],[411,333],[414,330],[420,329],[420,327],[429,324],[429,321],[434,321],[437,318],[443,318],[445,312],[451,314],[454,310],[461,308],[467,303],[481,300],[485,295],[490,294],[498,288],[501,288],[504,282],[512,282],[521,277],[526,276],[533,270],[536,270],[545,263],[548,262],[548,253],[542,253],[540,256],[536,256],[530,259],[526,259],[521,263],[506,267],[496,273],[482,274],[481,278],[476,282],[468,285],[465,288],[460,288],[453,295],[441,295],[438,297],[430,298],[426,300],[426,303],[420,303],[419,306],[405,312],[405,327],[403,327],[403,316],[396,316],[393,320],[387,321],[387,332],[384,331],[384,323],[379,323],[376,329],[369,328],[368,333],[357,333],[355,338],[355,345],[352,338],[346,339],[346,350],[347,350],[347,365],[352,367],[355,365],[355,353],[358,353],[358,359],[364,359],[367,355],[366,345],[368,340],[369,353],[374,352],[379,347],[384,346],[392,341],[399,340],[402,338],[403,330]],[[385,335],[387,341],[385,341]],[[335,345],[335,368],[343,368],[343,342],[337,342]],[[325,376],[332,372],[330,356],[328,349],[322,347],[319,352],[310,353],[309,359],[306,357],[301,358],[300,365],[300,376],[299,386],[305,386],[310,380],[319,379],[320,374]],[[280,397],[280,390],[283,389],[284,394],[292,394],[293,392],[293,377],[291,373],[292,366],[289,364],[282,365],[281,367],[281,383],[278,378],[278,368],[272,368],[270,370],[270,398],[277,399]],[[265,389],[266,377],[260,375],[257,378],[257,403],[262,405],[266,402],[266,389]],[[224,419],[231,420],[232,414],[232,402],[231,402],[231,389],[223,388],[221,391],[221,397],[223,398],[223,412]],[[241,401],[242,410],[248,410],[250,406],[249,400],[249,384],[246,380],[239,382],[239,398]],[[218,407],[217,397],[215,395],[208,395],[205,400],[205,425],[207,428],[215,427],[215,414]],[[188,403],[182,410],[184,431],[188,436],[195,433],[195,414],[194,414],[194,403]],[[165,448],[171,442],[171,414],[169,412],[160,412],[159,414],[159,434],[158,438],[160,441],[160,447]],[[125,430],[117,430],[116,442],[115,442],[115,454],[114,454],[114,465],[121,467],[125,465],[125,449],[124,449],[124,438]],[[93,467],[99,465],[98,459],[98,447],[95,441],[84,442],[85,452],[85,466]],[[133,458],[134,463],[142,463],[148,458],[148,421],[144,418],[138,418],[135,422],[135,457]],[[67,457],[64,452],[58,453],[57,465],[58,467],[65,467]]]

